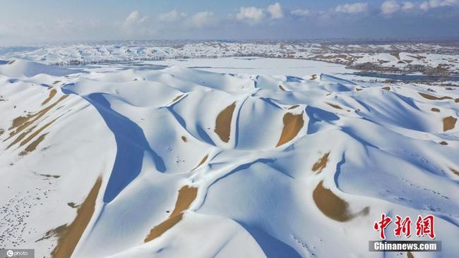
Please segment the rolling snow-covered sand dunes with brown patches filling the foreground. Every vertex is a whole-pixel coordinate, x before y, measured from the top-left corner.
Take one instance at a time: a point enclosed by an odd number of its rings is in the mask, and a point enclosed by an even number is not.
[[[433,214],[443,251],[414,255],[454,257],[458,116],[442,87],[4,62],[0,247],[406,257],[368,252],[374,221]]]

